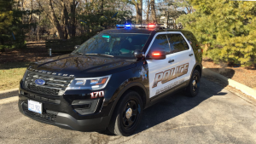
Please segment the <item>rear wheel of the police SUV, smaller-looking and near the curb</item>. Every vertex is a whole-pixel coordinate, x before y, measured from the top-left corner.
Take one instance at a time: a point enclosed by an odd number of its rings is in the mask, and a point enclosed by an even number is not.
[[[200,89],[200,72],[194,70],[189,85],[186,88],[186,94],[190,97],[195,97],[198,94]]]

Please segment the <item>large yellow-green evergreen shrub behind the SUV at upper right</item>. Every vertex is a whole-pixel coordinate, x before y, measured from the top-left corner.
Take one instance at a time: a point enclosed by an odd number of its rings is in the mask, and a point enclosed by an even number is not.
[[[229,0],[189,0],[189,3],[195,12],[182,15],[179,22],[194,32],[201,43],[210,43],[207,57],[241,66],[256,63],[256,3]]]

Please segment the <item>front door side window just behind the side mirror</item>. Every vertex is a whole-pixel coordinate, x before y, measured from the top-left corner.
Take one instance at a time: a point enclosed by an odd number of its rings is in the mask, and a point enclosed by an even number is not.
[[[165,51],[166,54],[170,54],[170,48],[168,40],[166,38],[166,34],[160,34],[155,37],[148,54],[151,55],[153,51]]]

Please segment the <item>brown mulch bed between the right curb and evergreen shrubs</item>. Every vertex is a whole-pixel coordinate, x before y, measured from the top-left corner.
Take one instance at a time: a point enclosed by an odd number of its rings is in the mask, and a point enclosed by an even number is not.
[[[207,58],[203,59],[202,65],[227,78],[256,89],[256,66],[241,67],[227,63],[215,64]]]

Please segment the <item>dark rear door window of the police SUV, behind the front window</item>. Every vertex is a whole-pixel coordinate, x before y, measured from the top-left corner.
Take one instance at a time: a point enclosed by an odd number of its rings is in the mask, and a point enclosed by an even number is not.
[[[172,53],[189,49],[189,45],[181,34],[167,34]]]

